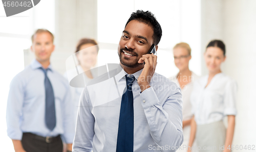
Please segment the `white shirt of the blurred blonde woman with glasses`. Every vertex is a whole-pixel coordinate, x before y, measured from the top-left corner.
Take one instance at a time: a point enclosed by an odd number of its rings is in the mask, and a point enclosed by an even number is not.
[[[178,75],[175,75],[173,77],[170,77],[169,79],[174,81],[177,85],[180,86],[180,83],[178,81],[178,79],[182,79],[182,80],[189,80],[190,79],[190,82],[187,83],[183,89],[181,89],[181,94],[182,94],[182,115],[183,115],[183,121],[185,120],[189,120],[193,117],[193,113],[191,112],[192,110],[192,105],[190,103],[190,95],[191,95],[191,92],[193,90],[193,82],[196,81],[199,76],[197,76],[194,72],[191,72],[191,76],[190,78],[189,77],[178,77],[177,79],[177,76]],[[183,137],[184,137],[184,141],[183,141],[183,144],[181,145],[181,147],[177,150],[179,152],[181,151],[187,151],[187,147],[188,147],[188,143],[189,143],[189,138],[190,138],[190,125],[187,125],[185,127],[183,127]],[[184,146],[183,146],[184,145]],[[193,146],[196,146],[195,143]],[[192,150],[194,151],[194,150]]]

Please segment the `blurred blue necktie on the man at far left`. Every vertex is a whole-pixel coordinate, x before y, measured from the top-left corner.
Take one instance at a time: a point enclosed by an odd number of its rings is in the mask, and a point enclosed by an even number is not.
[[[55,102],[54,102],[54,93],[51,81],[47,77],[47,70],[41,68],[45,73],[45,91],[46,91],[46,113],[45,113],[45,122],[47,128],[52,131],[56,125],[56,115],[55,115]]]

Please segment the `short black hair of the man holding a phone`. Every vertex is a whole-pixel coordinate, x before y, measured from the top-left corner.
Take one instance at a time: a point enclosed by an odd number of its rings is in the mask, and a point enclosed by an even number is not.
[[[154,31],[154,34],[153,34],[154,44],[158,45],[162,37],[162,28],[153,13],[151,13],[150,11],[144,12],[143,10],[137,10],[136,12],[133,12],[131,14],[125,27],[131,20],[138,20],[152,27]]]

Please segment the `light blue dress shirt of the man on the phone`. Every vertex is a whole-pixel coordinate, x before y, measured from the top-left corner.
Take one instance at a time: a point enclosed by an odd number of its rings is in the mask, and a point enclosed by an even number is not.
[[[116,151],[127,74],[120,68],[93,79],[82,92],[73,151]],[[141,93],[137,79],[142,70],[133,74],[134,151],[176,151],[183,142],[181,90],[155,73],[151,87]]]

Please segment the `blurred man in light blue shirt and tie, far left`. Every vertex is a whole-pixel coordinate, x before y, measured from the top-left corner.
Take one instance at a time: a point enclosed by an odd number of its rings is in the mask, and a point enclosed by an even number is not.
[[[54,36],[46,29],[32,35],[35,59],[11,81],[7,134],[19,152],[62,152],[63,136],[72,150],[75,126],[68,81],[50,64]]]

